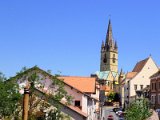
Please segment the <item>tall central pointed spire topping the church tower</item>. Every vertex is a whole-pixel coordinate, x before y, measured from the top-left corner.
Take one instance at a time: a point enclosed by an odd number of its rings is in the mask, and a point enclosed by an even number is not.
[[[108,30],[107,30],[107,35],[106,35],[106,44],[109,45],[109,47],[113,46],[112,25],[111,25],[110,19],[109,19]]]

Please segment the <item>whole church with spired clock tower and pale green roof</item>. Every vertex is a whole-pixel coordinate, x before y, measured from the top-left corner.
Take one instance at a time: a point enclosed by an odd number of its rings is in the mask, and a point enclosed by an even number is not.
[[[101,45],[100,71],[96,72],[100,80],[106,84],[106,94],[110,91],[116,92],[115,85],[118,84],[118,45],[113,39],[112,25],[109,20],[105,41]]]

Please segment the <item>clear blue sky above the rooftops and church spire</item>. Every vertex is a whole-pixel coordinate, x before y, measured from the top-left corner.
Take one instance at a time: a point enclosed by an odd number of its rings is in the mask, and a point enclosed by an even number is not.
[[[23,66],[89,76],[99,70],[109,16],[119,70],[150,54],[160,65],[159,0],[1,0],[0,71]]]

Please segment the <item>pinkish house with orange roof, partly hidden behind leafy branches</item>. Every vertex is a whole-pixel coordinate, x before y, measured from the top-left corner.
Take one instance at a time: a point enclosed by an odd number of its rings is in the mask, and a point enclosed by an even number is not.
[[[39,77],[39,82],[36,84],[38,97],[43,94],[54,94],[56,92],[57,89],[53,86],[52,81],[54,76],[38,67],[28,69],[14,77],[20,85],[22,92],[22,88],[28,82],[28,77],[25,76],[32,73],[36,73]],[[66,104],[66,98],[60,101],[60,104],[63,105],[61,111],[69,115],[73,120],[97,120],[99,117],[99,85],[96,82],[96,78],[73,76],[59,76],[58,78],[64,83],[64,89],[67,94],[73,98],[70,105]],[[52,104],[54,101],[48,101],[54,107],[54,104]]]

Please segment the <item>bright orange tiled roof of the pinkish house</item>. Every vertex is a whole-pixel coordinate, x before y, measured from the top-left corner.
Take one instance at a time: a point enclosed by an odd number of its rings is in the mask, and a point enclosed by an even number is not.
[[[81,92],[95,93],[96,78],[67,76],[59,77],[59,79],[62,79],[66,84],[76,88]]]

